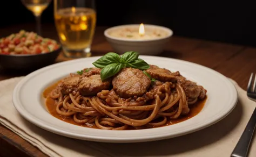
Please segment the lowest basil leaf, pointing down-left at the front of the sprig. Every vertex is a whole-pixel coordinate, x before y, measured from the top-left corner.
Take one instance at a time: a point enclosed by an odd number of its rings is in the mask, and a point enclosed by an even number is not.
[[[100,79],[102,79],[103,81],[117,74],[122,68],[124,68],[124,65],[121,63],[112,63],[110,65],[107,65],[102,69],[102,72],[100,72]]]

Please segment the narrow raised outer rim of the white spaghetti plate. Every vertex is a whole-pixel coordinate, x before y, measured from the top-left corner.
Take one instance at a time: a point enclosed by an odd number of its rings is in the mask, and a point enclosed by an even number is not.
[[[192,133],[192,132],[196,132],[196,131],[205,129],[206,127],[211,126],[211,125],[219,122],[223,118],[225,118],[227,115],[229,115],[233,111],[233,109],[237,105],[237,102],[238,102],[237,89],[235,88],[235,85],[231,82],[231,80],[228,79],[223,74],[221,74],[221,73],[219,73],[219,72],[217,72],[217,71],[215,71],[211,68],[205,67],[203,65],[199,65],[198,63],[189,62],[189,61],[185,61],[185,60],[166,58],[166,57],[162,57],[162,56],[151,56],[151,55],[140,55],[140,56],[143,57],[143,58],[159,58],[159,59],[166,59],[166,60],[176,60],[178,62],[188,63],[188,64],[192,64],[192,65],[195,65],[195,66],[199,66],[201,68],[205,68],[207,70],[210,70],[210,72],[219,75],[222,79],[224,79],[226,81],[226,83],[228,83],[228,85],[231,88],[233,88],[233,91],[235,92],[235,95],[234,95],[235,100],[232,102],[233,103],[232,108],[230,108],[222,116],[219,116],[218,118],[215,118],[214,120],[212,120],[211,123],[207,123],[207,125],[197,127],[196,129],[190,129],[190,131],[182,131],[181,133],[176,133],[176,134],[172,134],[172,135],[169,135],[169,134],[167,134],[167,135],[158,135],[158,136],[154,136],[154,137],[145,137],[145,138],[140,138],[140,139],[134,139],[134,138],[127,139],[127,138],[120,138],[120,137],[115,137],[114,139],[113,138],[110,139],[110,137],[104,138],[104,137],[98,137],[98,136],[92,136],[92,135],[87,135],[87,136],[83,135],[83,137],[81,137],[81,135],[79,135],[77,133],[70,133],[70,132],[66,132],[66,131],[63,131],[63,130],[52,128],[51,126],[44,125],[41,122],[38,122],[36,119],[33,119],[34,116],[31,116],[29,114],[26,115],[26,113],[29,113],[29,112],[26,111],[25,109],[23,109],[21,105],[19,105],[20,102],[18,101],[17,98],[19,97],[18,90],[22,87],[22,85],[26,81],[28,81],[30,79],[30,77],[32,77],[33,75],[36,75],[37,73],[44,72],[44,70],[50,69],[50,68],[55,67],[55,66],[57,67],[57,66],[66,65],[66,64],[68,65],[69,63],[76,62],[78,60],[87,60],[88,58],[80,58],[80,59],[74,59],[74,60],[55,63],[55,64],[52,64],[52,65],[40,68],[38,70],[35,70],[34,72],[26,75],[21,81],[19,81],[16,84],[16,86],[14,88],[14,91],[13,91],[13,94],[12,94],[12,102],[13,102],[16,110],[19,112],[19,114],[22,115],[23,118],[28,120],[30,123],[32,123],[32,124],[34,124],[38,127],[41,127],[44,130],[47,130],[47,131],[50,131],[50,132],[53,132],[53,133],[56,133],[56,134],[59,134],[59,135],[64,135],[65,137],[75,138],[75,139],[82,139],[82,140],[89,140],[89,141],[100,141],[100,142],[125,142],[125,143],[155,141],[155,140],[161,140],[161,139],[174,138],[174,137],[179,137],[181,135],[185,135],[185,134],[189,134],[189,133]],[[93,56],[93,57],[90,57],[90,59],[97,59],[97,58],[100,58],[100,57],[101,56]]]

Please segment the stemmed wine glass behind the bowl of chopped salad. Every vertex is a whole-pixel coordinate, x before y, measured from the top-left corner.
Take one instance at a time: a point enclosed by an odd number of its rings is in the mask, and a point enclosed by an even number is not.
[[[37,34],[41,34],[41,15],[42,12],[48,7],[52,0],[21,0],[22,3],[28,8],[28,10],[32,11],[33,15],[36,18],[36,28]]]

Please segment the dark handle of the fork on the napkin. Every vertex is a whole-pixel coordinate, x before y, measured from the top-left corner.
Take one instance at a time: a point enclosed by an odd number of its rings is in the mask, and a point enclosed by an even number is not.
[[[235,146],[231,157],[246,157],[248,148],[251,144],[251,139],[256,125],[256,108],[254,109],[252,116],[245,127],[237,145]]]

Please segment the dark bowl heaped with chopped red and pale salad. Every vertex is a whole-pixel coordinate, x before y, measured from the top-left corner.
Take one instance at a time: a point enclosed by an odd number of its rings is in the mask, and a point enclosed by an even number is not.
[[[0,66],[18,70],[42,68],[54,63],[61,50],[56,40],[21,30],[0,39]]]

